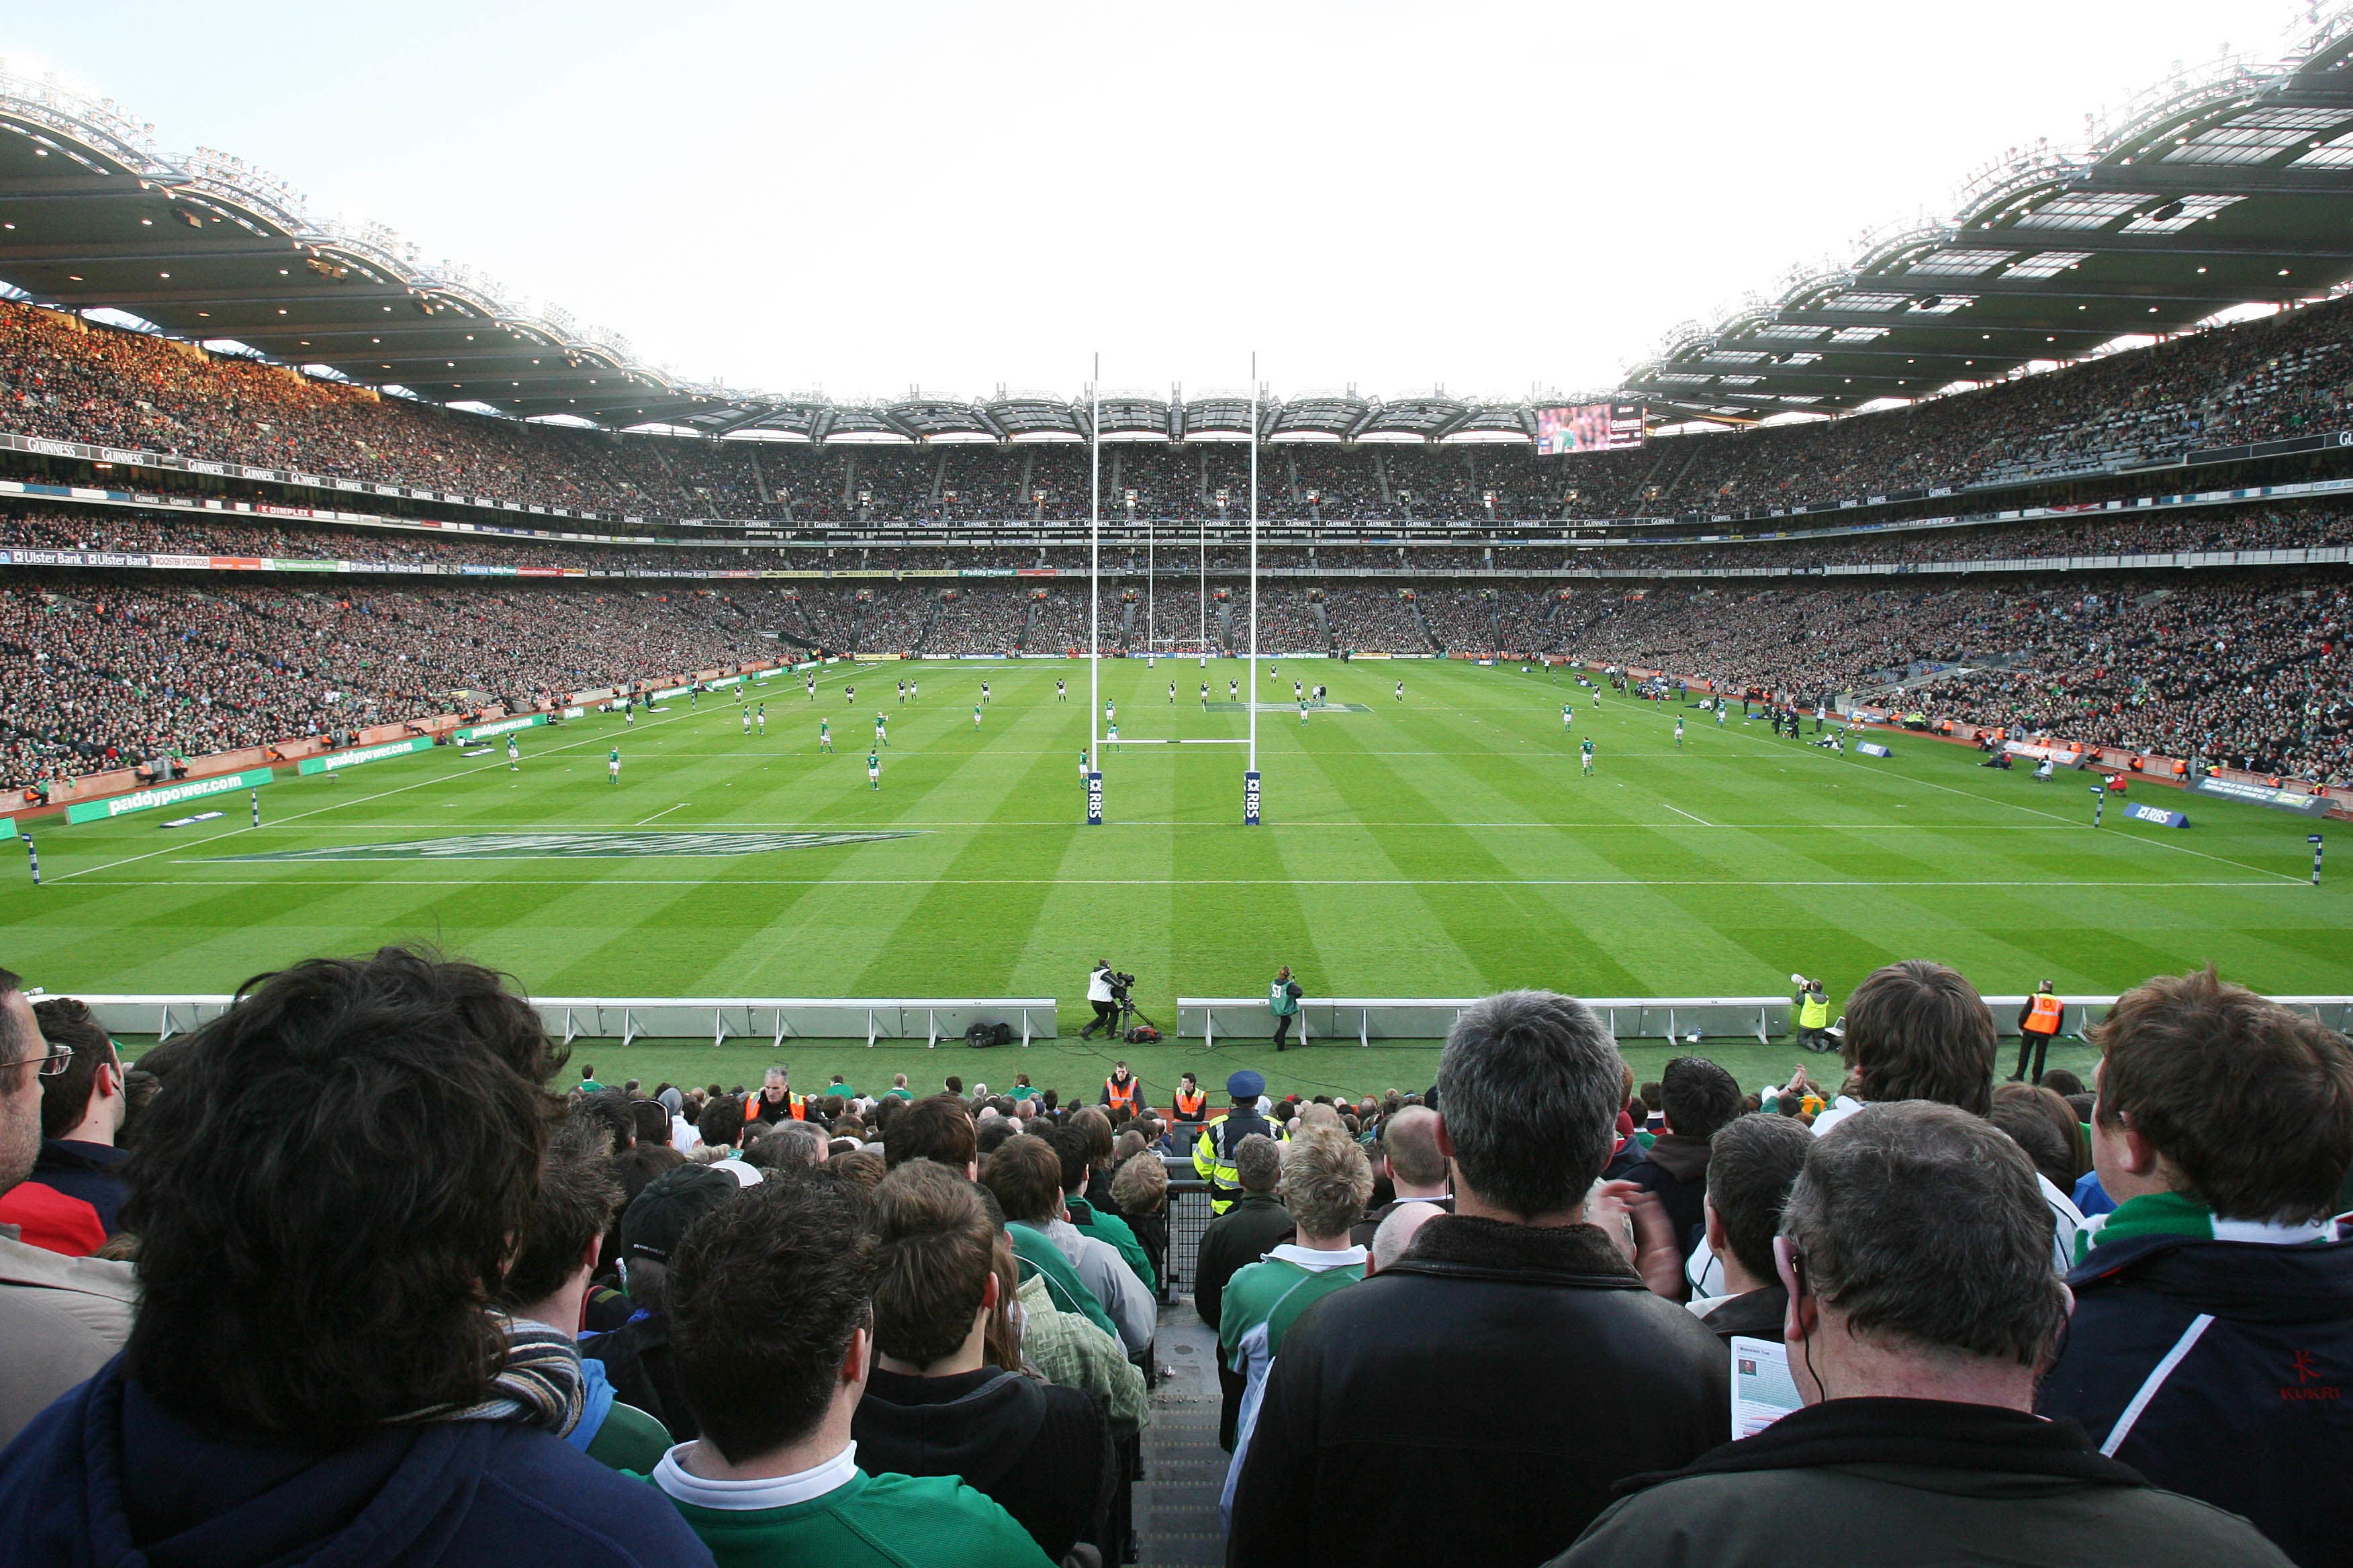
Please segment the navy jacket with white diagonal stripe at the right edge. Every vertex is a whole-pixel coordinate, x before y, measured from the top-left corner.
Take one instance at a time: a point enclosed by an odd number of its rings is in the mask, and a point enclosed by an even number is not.
[[[2341,1563],[2353,1241],[2132,1237],[2094,1246],[2068,1286],[2075,1316],[2038,1410],[2082,1422],[2155,1486],[2242,1514],[2299,1563]]]

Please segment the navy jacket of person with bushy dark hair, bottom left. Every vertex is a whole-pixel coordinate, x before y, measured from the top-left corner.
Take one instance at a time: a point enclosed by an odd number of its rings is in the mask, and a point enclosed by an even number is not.
[[[0,1450],[9,1568],[711,1568],[652,1486],[506,1422],[384,1427],[334,1453],[202,1432],[122,1359]]]

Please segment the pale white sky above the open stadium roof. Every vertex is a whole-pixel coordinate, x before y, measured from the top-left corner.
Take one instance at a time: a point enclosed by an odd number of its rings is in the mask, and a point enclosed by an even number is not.
[[[0,54],[689,378],[1520,397],[2304,12],[92,0]]]

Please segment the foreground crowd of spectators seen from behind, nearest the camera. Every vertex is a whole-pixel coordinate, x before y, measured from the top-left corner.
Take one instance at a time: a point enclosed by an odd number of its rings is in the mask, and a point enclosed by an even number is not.
[[[1426,1093],[1238,1070],[1165,1114],[1127,1063],[558,1098],[499,976],[400,947],[129,1063],[38,994],[0,969],[9,1563],[1132,1561],[1186,1286],[1233,1568],[2315,1568],[2353,1528],[2353,1044],[2212,969],[2108,1009],[2092,1091],[2024,1046],[1998,1084],[1915,959],[1807,1025],[1835,1081],[1635,1093],[1588,1006],[1506,992]]]

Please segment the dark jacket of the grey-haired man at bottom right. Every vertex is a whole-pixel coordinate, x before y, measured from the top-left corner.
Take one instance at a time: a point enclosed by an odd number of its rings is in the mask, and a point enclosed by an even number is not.
[[[1621,1490],[1553,1568],[2287,1563],[2247,1521],[2092,1453],[2073,1422],[1937,1399],[1791,1410]]]

